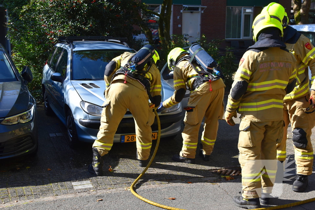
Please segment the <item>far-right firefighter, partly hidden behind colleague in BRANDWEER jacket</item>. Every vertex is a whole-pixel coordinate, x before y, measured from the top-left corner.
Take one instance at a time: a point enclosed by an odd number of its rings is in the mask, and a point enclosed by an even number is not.
[[[281,7],[278,3],[270,3],[263,9]],[[284,43],[286,48],[295,55],[297,82],[292,92],[284,97],[284,135],[281,143],[277,144],[277,160],[284,162],[286,159],[286,140],[288,125],[291,122],[292,140],[295,150],[296,176],[292,190],[303,192],[308,184],[307,176],[313,171],[313,148],[311,143],[312,128],[315,125],[314,99],[315,99],[315,48],[311,41],[288,26],[288,17],[285,13]],[[308,75],[308,67],[312,75]],[[309,77],[312,80],[309,89]]]

